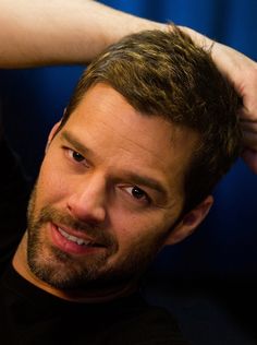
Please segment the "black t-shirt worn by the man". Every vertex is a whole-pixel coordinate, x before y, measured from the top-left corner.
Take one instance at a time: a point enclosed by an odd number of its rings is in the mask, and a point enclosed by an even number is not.
[[[173,317],[139,293],[109,302],[71,302],[14,271],[10,262],[25,229],[29,190],[5,143],[0,156],[0,344],[185,345]]]

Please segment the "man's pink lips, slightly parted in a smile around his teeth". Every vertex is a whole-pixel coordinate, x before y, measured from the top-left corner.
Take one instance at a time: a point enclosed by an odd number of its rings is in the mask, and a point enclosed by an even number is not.
[[[78,245],[72,240],[69,240],[66,237],[64,237],[60,231],[59,231],[59,227],[61,229],[63,229],[66,234],[69,234],[70,236],[75,236],[79,239],[83,239],[85,241],[89,241],[91,243],[94,243],[94,240],[91,238],[86,237],[84,234],[81,234],[78,231],[74,231],[71,229],[66,229],[63,226],[59,226],[56,224],[51,224],[50,226],[50,236],[52,239],[53,245],[59,248],[60,250],[62,250],[63,252],[66,253],[71,253],[71,254],[77,254],[77,255],[82,255],[82,254],[88,254],[88,253],[93,253],[97,250],[103,249],[103,247],[100,247],[98,245]]]

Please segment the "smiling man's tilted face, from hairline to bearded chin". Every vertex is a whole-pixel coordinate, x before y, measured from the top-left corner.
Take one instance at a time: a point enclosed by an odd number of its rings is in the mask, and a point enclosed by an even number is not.
[[[195,140],[110,86],[91,87],[42,162],[28,210],[30,270],[63,289],[137,278],[182,211]]]

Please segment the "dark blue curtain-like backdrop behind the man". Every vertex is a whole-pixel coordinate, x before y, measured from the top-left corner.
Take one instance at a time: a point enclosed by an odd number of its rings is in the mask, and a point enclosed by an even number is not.
[[[257,1],[102,1],[145,16],[195,28],[257,59]],[[125,23],[124,23],[125,25]],[[9,135],[36,175],[51,126],[61,116],[84,67],[1,71]],[[257,269],[257,177],[241,159],[215,192],[216,204],[197,233],[159,255],[156,274],[248,278]]]

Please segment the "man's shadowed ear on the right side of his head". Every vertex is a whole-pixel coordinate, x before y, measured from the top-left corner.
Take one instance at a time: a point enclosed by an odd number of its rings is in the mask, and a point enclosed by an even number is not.
[[[182,221],[171,230],[164,246],[175,245],[193,234],[205,219],[212,204],[213,198],[212,195],[208,195],[200,204],[185,214]]]

